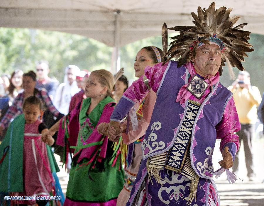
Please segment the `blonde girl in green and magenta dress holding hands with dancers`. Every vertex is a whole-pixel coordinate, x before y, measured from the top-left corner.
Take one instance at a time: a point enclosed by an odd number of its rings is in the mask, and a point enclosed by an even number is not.
[[[93,71],[85,88],[87,98],[42,136],[52,141],[49,135],[59,130],[57,144],[74,149],[64,205],[116,205],[124,178],[120,142],[112,147],[108,137],[97,132],[97,125],[109,122],[114,110],[113,86],[109,71]]]

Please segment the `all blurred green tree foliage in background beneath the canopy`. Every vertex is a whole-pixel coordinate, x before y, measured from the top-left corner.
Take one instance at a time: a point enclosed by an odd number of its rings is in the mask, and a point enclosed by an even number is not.
[[[173,36],[173,34],[169,34]],[[249,42],[255,51],[248,54],[245,69],[251,74],[251,84],[264,91],[262,81],[264,65],[264,36],[252,34]],[[145,46],[155,45],[162,49],[161,36],[145,38],[121,47],[121,67],[125,69],[128,79],[136,79],[133,64],[137,52]],[[50,76],[63,80],[64,69],[69,64],[75,64],[80,69],[93,71],[107,69],[110,71],[112,47],[84,36],[55,31],[0,28],[0,72],[11,74],[14,69],[35,71],[35,63],[47,60],[50,63]],[[235,74],[238,69],[234,68]],[[224,68],[220,81],[229,86],[233,80],[228,77]]]

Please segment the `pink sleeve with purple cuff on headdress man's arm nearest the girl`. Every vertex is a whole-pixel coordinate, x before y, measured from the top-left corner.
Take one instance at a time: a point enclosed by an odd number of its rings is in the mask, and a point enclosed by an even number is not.
[[[153,67],[146,67],[145,75],[134,81],[124,92],[119,103],[116,105],[110,120],[116,122],[122,120],[135,103],[138,103],[145,98],[150,91],[149,88],[152,88],[154,92],[157,92],[167,66],[168,62],[164,65],[159,63]],[[144,76],[148,79],[148,86],[144,83]]]

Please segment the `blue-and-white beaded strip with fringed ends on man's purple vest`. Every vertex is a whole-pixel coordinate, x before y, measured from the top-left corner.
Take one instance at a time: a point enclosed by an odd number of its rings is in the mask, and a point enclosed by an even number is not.
[[[196,101],[188,100],[187,112],[180,126],[180,130],[175,139],[173,147],[161,154],[153,155],[148,158],[147,169],[150,181],[153,177],[157,183],[161,184],[160,169],[169,169],[180,172],[191,179],[190,195],[186,198],[189,203],[196,199],[197,185],[199,176],[192,168],[190,159],[190,144],[194,120],[197,116],[201,104]],[[162,185],[162,184],[161,184]]]

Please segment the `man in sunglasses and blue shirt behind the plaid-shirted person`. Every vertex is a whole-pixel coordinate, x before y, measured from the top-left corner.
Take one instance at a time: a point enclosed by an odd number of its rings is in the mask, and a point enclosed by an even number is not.
[[[57,79],[51,79],[48,76],[50,69],[47,61],[38,62],[36,69],[38,76],[36,88],[45,88],[48,91],[48,95],[50,96],[50,98],[53,99],[56,88],[59,85],[59,81]]]

